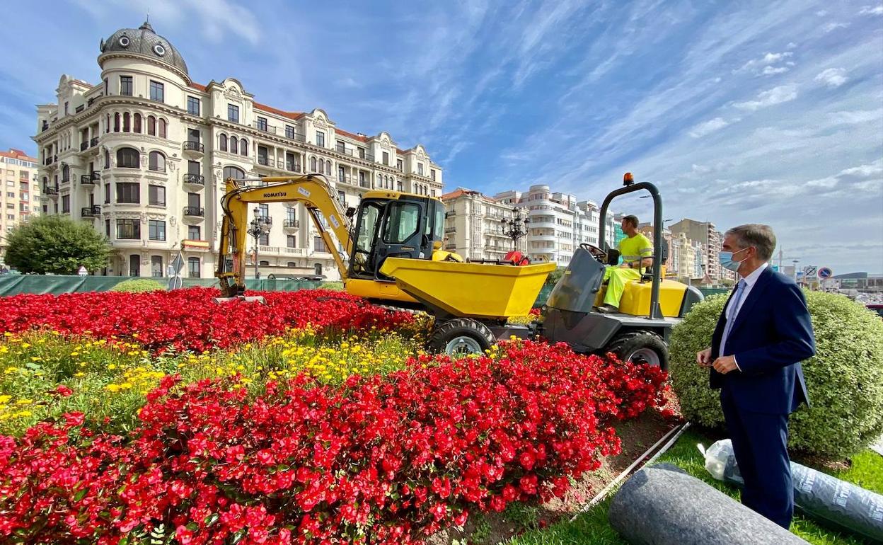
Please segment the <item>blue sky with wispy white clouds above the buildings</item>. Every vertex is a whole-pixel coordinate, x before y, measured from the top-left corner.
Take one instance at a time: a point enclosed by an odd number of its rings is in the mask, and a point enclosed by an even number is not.
[[[883,272],[879,0],[5,4],[0,148],[34,152],[34,104],[98,81],[98,42],[149,10],[195,81],[422,143],[446,189],[601,201],[630,170],[666,218],[770,223],[787,262]]]

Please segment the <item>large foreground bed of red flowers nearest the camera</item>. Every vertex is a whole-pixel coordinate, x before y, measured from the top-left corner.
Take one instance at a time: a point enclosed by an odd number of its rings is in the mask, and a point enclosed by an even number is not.
[[[90,437],[80,414],[0,437],[0,537],[118,543],[162,524],[192,544],[419,541],[469,511],[563,494],[619,451],[611,425],[660,404],[664,380],[531,342],[425,362],[250,401],[169,379],[125,440]]]

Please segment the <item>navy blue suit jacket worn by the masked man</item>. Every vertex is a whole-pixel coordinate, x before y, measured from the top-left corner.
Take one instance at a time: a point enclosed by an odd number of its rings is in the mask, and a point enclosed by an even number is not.
[[[730,299],[733,293],[730,293]],[[726,307],[712,337],[712,360],[720,355]],[[725,355],[742,369],[711,370],[711,387],[723,388],[745,411],[788,414],[810,403],[800,362],[816,353],[810,312],[792,279],[767,267],[742,303],[727,337]]]

